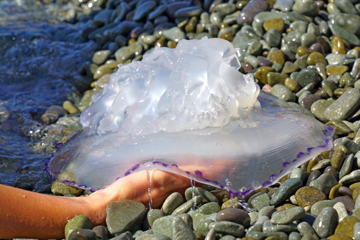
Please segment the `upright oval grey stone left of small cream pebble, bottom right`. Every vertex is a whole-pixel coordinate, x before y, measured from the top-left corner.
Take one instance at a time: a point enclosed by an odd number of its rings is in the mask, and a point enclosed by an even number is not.
[[[334,208],[326,207],[316,217],[312,228],[316,234],[321,238],[326,238],[332,235],[338,223],[338,215]]]

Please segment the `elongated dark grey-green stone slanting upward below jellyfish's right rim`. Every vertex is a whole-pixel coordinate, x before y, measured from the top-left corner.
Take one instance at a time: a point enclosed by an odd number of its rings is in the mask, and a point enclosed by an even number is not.
[[[271,198],[270,205],[277,205],[290,198],[290,196],[300,189],[301,186],[302,181],[299,178],[290,178],[284,181],[276,191],[273,198]]]

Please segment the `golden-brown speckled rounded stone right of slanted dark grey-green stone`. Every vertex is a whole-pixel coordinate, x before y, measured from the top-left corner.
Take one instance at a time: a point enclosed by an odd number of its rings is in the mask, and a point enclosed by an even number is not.
[[[299,205],[299,207],[312,206],[318,201],[325,200],[326,195],[312,186],[301,187],[295,193],[295,199]]]

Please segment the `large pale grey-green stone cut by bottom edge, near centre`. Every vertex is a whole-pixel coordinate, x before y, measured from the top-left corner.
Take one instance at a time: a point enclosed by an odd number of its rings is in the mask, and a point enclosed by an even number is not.
[[[165,216],[154,221],[152,231],[155,234],[162,234],[172,240],[197,240],[193,230],[176,216]]]

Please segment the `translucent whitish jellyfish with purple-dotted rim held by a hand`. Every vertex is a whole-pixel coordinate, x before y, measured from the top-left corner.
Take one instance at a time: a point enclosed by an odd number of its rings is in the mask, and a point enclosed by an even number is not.
[[[98,190],[162,169],[246,194],[329,150],[333,129],[260,92],[237,71],[236,51],[222,39],[181,40],[121,65],[46,170]]]

